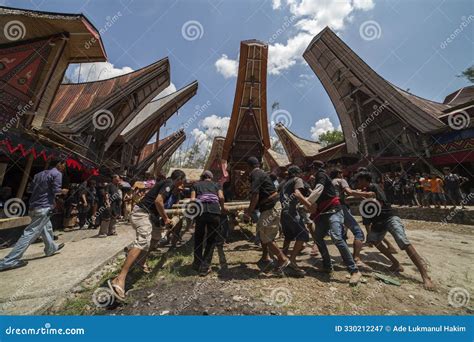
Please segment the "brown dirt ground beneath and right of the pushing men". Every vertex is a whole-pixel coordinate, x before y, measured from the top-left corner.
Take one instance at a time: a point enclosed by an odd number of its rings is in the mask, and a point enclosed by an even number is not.
[[[375,248],[365,247],[363,260],[375,272],[388,275],[400,286],[386,284],[374,272],[363,272],[363,283],[349,287],[348,273],[335,246],[330,245],[335,272],[317,272],[319,257],[303,251],[299,264],[304,278],[279,277],[259,271],[260,248],[253,243],[252,227],[234,231],[225,246],[226,265],[215,253],[213,272],[199,277],[190,264],[192,241],[164,257],[154,256],[154,272],[135,271],[128,299],[106,308],[94,305],[92,288],[74,294],[51,314],[105,315],[462,315],[472,314],[474,293],[474,234],[472,226],[404,220],[408,236],[429,267],[436,291],[423,289],[421,277],[403,251],[396,255],[405,272],[391,274],[388,260]],[[250,229],[248,229],[250,228]],[[352,241],[352,238],[349,238]],[[393,239],[391,239],[392,242]],[[282,240],[278,241],[282,244]],[[120,264],[116,261],[116,266]],[[110,276],[110,274],[108,275]],[[136,277],[140,280],[136,281]],[[103,281],[102,281],[103,284]],[[97,291],[97,290],[95,290]],[[96,296],[97,297],[97,296]],[[96,303],[97,301],[95,301]],[[97,303],[96,303],[97,304]],[[101,306],[101,305],[99,305]]]

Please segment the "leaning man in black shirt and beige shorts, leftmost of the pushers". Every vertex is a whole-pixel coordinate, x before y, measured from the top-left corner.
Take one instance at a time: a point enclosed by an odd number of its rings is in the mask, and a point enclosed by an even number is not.
[[[186,175],[181,170],[174,170],[171,177],[157,182],[145,197],[133,208],[130,221],[136,230],[136,239],[128,250],[127,258],[119,275],[108,281],[109,288],[115,293],[119,300],[125,299],[125,279],[130,268],[137,262],[142,264],[140,257],[146,258],[150,248],[150,240],[153,231],[153,221],[160,216],[166,226],[172,224],[171,219],[165,211],[165,203],[172,195],[174,188],[184,184]],[[155,217],[155,218],[153,218]]]

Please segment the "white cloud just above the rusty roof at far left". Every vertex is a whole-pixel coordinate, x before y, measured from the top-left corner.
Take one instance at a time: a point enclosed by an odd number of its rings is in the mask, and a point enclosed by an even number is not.
[[[93,82],[105,80],[108,78],[128,74],[133,71],[132,68],[124,66],[116,68],[109,62],[82,63],[80,65],[70,66],[69,78],[72,82]]]

